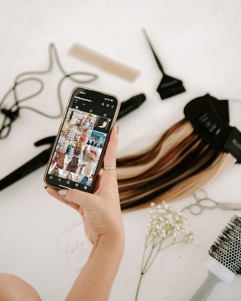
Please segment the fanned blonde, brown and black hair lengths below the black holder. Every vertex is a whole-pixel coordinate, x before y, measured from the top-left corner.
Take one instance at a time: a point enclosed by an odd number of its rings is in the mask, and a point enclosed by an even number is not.
[[[204,142],[184,118],[148,149],[116,160],[120,205],[132,209],[183,198],[235,162]]]

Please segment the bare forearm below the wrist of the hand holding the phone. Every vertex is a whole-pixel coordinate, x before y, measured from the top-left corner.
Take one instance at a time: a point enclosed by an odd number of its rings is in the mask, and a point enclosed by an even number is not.
[[[124,237],[100,237],[66,301],[106,301],[124,251]]]

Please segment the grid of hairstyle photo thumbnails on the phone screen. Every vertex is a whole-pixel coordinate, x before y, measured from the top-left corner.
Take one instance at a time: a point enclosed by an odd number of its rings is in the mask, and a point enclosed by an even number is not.
[[[48,173],[91,186],[110,119],[69,108]],[[69,182],[69,183],[68,183]]]

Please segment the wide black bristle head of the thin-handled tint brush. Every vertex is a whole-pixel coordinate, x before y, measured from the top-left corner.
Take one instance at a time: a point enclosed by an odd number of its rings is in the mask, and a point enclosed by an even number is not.
[[[160,94],[161,99],[166,99],[185,91],[182,80],[166,74],[163,75],[163,78],[157,88],[157,92]]]

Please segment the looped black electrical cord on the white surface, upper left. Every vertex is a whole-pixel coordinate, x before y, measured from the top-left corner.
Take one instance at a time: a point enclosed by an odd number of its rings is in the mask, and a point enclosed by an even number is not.
[[[63,114],[63,103],[62,103],[62,98],[61,98],[61,86],[62,83],[64,82],[64,80],[66,78],[69,78],[70,80],[76,82],[76,83],[87,83],[87,82],[91,82],[93,80],[95,80],[98,76],[96,74],[93,73],[87,73],[87,72],[71,72],[71,73],[67,73],[63,66],[61,65],[61,62],[59,60],[58,54],[57,54],[57,50],[56,50],[56,46],[53,43],[49,44],[48,47],[48,54],[49,54],[49,66],[46,70],[44,71],[26,71],[26,72],[22,72],[19,75],[17,75],[17,77],[14,80],[14,84],[13,86],[7,91],[7,93],[4,95],[4,97],[2,98],[2,100],[0,101],[0,112],[2,112],[4,114],[4,119],[3,119],[3,123],[2,126],[0,127],[0,139],[4,139],[6,138],[11,130],[11,125],[12,123],[19,117],[19,111],[20,109],[28,109],[28,110],[32,110],[38,114],[41,114],[45,117],[48,118],[58,118],[61,117]],[[61,71],[61,73],[63,74],[63,77],[59,80],[58,85],[57,85],[57,97],[58,97],[58,104],[59,104],[59,109],[60,112],[57,115],[49,115],[45,112],[42,112],[40,110],[37,110],[33,107],[29,107],[29,106],[20,106],[19,104],[21,104],[23,101],[27,100],[27,99],[31,99],[37,95],[39,95],[43,88],[44,88],[44,83],[43,81],[35,76],[32,75],[41,75],[41,74],[47,74],[49,71],[51,71],[52,67],[53,67],[53,63],[54,63],[54,59],[55,62],[59,68],[59,70]],[[91,79],[87,79],[87,80],[79,80],[77,78],[75,78],[75,75],[87,75],[87,76],[91,76]],[[22,76],[30,76],[24,79],[20,79]],[[37,81],[40,83],[40,88],[37,92],[19,99],[18,95],[17,95],[17,91],[16,91],[16,87],[26,81]],[[10,93],[13,92],[13,96],[14,96],[14,104],[12,106],[10,106],[9,109],[6,109],[3,107],[3,104],[5,102],[5,100],[7,99],[7,97],[10,95]]]

